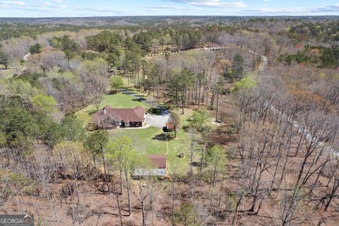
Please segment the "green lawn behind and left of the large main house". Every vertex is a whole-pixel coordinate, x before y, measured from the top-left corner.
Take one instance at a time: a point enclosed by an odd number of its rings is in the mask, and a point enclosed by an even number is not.
[[[117,93],[114,95],[105,95],[102,98],[100,109],[105,107],[106,105],[109,105],[111,107],[116,108],[132,108],[140,105],[141,107],[144,107],[145,109],[148,109],[150,106],[146,104],[145,102],[141,102],[136,100],[135,97],[132,97],[131,95],[126,95],[122,93]],[[90,121],[91,114],[95,113],[95,106],[89,105],[80,111],[76,112],[76,115],[79,117],[79,119],[83,122],[83,126],[86,126],[88,122]]]

